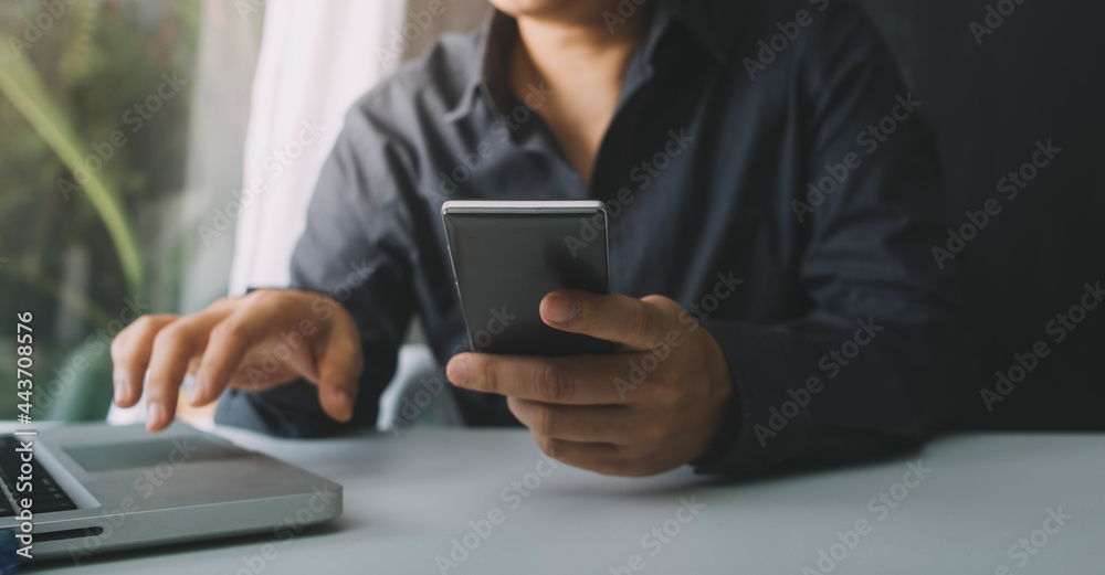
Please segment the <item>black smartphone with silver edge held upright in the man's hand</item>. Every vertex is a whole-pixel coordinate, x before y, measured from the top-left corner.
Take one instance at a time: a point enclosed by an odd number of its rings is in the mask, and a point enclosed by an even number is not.
[[[473,351],[611,351],[608,341],[548,327],[539,312],[558,289],[610,292],[602,202],[454,200],[441,219]]]

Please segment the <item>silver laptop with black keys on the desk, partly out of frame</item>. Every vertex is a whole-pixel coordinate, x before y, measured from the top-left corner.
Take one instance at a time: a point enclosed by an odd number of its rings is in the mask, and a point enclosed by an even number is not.
[[[21,469],[28,440],[30,477]],[[0,433],[0,530],[21,533],[30,494],[31,561],[80,563],[244,533],[294,536],[341,514],[341,486],[179,423],[157,435],[106,424]]]

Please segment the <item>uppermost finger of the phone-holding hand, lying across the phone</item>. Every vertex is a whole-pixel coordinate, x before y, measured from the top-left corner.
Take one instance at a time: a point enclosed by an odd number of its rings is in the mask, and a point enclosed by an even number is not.
[[[540,313],[545,323],[556,329],[649,350],[667,336],[670,322],[663,301],[652,296],[636,299],[620,294],[564,289],[545,296]]]

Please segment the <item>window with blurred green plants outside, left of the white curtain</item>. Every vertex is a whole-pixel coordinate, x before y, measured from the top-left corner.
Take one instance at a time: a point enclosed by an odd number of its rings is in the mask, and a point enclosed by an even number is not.
[[[0,369],[30,311],[35,418],[102,418],[115,333],[225,291],[233,233],[198,227],[241,187],[261,21],[232,0],[0,0]]]

